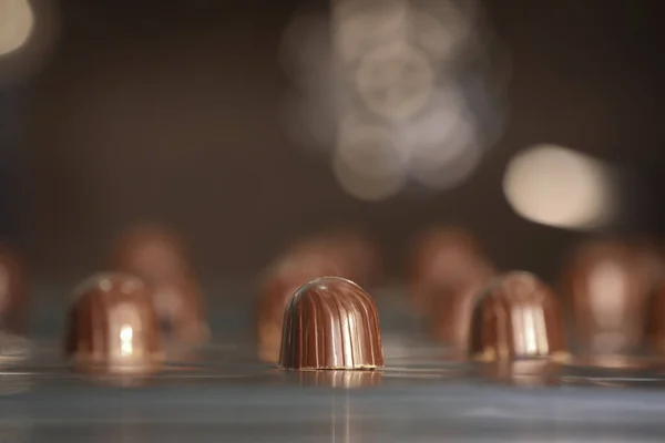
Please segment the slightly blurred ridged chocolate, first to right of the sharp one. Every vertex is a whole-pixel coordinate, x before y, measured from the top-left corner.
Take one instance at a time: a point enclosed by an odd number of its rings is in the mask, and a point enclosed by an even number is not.
[[[567,359],[559,300],[529,272],[498,278],[473,311],[469,351],[482,361]]]

